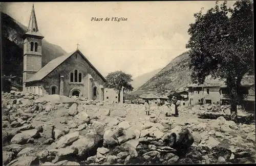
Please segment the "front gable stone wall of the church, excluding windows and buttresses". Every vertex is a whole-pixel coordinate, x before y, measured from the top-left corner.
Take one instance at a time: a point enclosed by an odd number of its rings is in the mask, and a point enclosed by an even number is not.
[[[74,72],[74,70],[78,70],[78,73],[82,74],[82,82],[70,82],[70,73]],[[97,99],[100,98],[99,94],[101,94],[101,99],[103,99],[103,94],[99,92],[99,86],[103,85],[103,80],[78,53],[77,56],[74,54],[68,58],[42,81],[44,82],[44,87],[49,87],[46,89],[49,94],[51,94],[51,86],[57,86],[58,90],[56,94],[59,94],[60,76],[63,76],[63,95],[70,96],[71,90],[77,89],[81,92],[83,97],[88,97],[88,74],[91,74],[93,77],[92,88],[93,86],[97,87]],[[93,92],[93,90],[91,90],[91,92]],[[91,93],[90,95],[93,94]]]

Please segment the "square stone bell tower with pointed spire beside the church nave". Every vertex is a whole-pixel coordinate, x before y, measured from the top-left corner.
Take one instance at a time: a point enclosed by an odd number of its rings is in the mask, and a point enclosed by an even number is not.
[[[28,31],[23,36],[23,91],[26,92],[26,80],[42,67],[42,36],[38,32],[34,4],[29,20]]]

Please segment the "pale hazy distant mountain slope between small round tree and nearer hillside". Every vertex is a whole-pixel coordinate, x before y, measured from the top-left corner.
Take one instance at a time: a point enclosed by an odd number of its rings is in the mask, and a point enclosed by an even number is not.
[[[131,82],[131,84],[132,84],[132,86],[134,88],[134,91],[136,91],[140,86],[145,84],[145,82],[147,80],[149,80],[151,77],[156,75],[160,70],[161,69],[157,69],[157,70],[154,70],[152,72],[149,72],[149,73],[146,73],[146,74],[142,74],[142,75],[139,75],[139,76],[133,78],[133,81]]]

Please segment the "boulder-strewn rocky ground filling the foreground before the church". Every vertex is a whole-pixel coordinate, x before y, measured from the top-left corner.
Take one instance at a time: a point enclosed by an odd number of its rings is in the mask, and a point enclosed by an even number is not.
[[[179,117],[152,109],[147,116],[143,105],[2,93],[3,164],[255,162],[255,124],[226,120],[227,106],[179,107]],[[221,116],[198,118],[209,112]]]

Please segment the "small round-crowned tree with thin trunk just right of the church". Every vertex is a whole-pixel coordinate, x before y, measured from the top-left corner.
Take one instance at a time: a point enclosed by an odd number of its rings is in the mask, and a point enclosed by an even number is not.
[[[131,85],[132,75],[125,74],[122,71],[114,71],[106,76],[106,88],[114,88],[118,92],[118,102],[120,102],[120,92],[122,87],[123,91],[132,91],[133,87]]]

